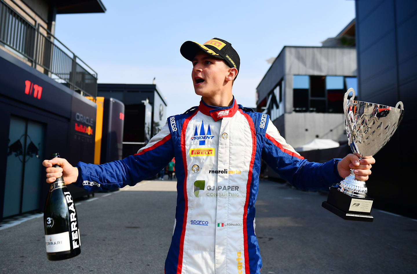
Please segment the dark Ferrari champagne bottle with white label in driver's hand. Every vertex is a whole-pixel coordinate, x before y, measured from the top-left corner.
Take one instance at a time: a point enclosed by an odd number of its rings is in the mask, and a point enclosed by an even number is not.
[[[55,157],[59,157],[59,154],[51,155],[51,159]],[[55,164],[53,167],[59,165]],[[81,253],[75,204],[62,176],[50,184],[43,212],[43,224],[48,260],[69,259]]]

